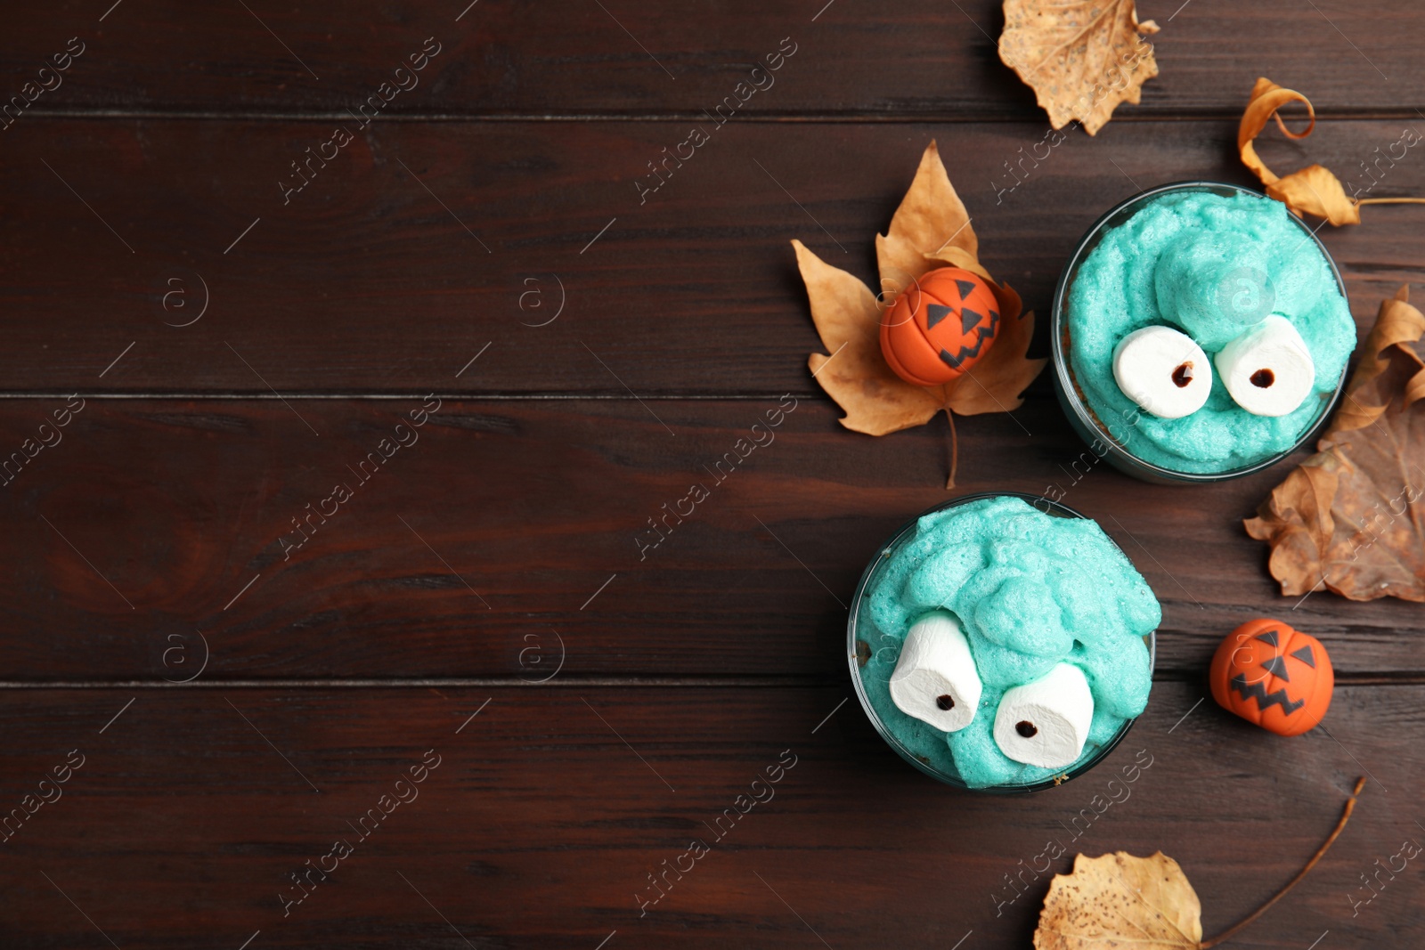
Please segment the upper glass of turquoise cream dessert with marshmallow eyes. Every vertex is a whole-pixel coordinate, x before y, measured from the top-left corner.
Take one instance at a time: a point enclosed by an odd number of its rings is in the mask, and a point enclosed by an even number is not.
[[[1331,256],[1281,202],[1178,182],[1089,228],[1059,278],[1050,348],[1094,454],[1146,481],[1221,481],[1315,437],[1355,320]]]

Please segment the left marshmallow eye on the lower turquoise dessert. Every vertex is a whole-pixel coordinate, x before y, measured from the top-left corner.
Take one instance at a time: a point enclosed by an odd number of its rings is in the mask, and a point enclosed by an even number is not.
[[[982,691],[970,641],[959,621],[943,611],[918,620],[891,674],[891,699],[901,712],[955,732],[975,718]]]

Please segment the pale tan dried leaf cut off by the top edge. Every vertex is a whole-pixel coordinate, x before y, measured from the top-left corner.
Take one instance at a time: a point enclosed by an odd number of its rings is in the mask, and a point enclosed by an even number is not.
[[[1035,90],[1050,125],[1079,120],[1093,135],[1157,75],[1143,40],[1157,30],[1139,23],[1133,0],[1005,0],[999,58]]]

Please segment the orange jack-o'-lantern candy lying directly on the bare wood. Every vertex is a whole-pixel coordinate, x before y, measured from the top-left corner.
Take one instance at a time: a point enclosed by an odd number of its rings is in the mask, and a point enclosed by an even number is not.
[[[1321,722],[1335,687],[1321,641],[1277,620],[1247,621],[1228,634],[1210,677],[1220,706],[1278,735]]]

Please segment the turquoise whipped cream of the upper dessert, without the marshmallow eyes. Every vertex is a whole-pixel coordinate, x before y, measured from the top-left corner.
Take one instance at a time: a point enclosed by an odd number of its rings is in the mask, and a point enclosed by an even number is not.
[[[1297,329],[1315,363],[1312,393],[1288,414],[1247,412],[1214,372],[1201,409],[1159,419],[1114,380],[1114,348],[1134,330],[1171,326],[1211,359],[1270,315]],[[1144,204],[1079,266],[1066,319],[1070,367],[1102,426],[1174,471],[1230,471],[1291,449],[1355,348],[1351,309],[1317,242],[1281,202],[1250,194],[1190,191]]]

